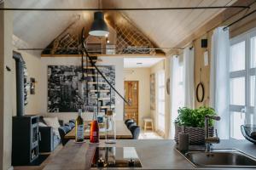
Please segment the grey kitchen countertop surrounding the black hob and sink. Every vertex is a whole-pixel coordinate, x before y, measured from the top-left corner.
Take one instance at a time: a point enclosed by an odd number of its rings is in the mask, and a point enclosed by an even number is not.
[[[137,155],[143,165],[143,169],[199,169],[193,167],[175,148],[174,140],[142,139],[142,140],[118,140],[116,144],[75,144],[70,140],[60,152],[53,156],[44,167],[52,169],[89,169],[90,160],[96,146],[135,147]],[[217,149],[237,149],[256,157],[256,144],[246,140],[221,140],[220,144],[214,144]],[[112,168],[113,169],[113,168]],[[200,168],[200,169],[236,169],[236,168]],[[243,168],[244,169],[244,168]],[[252,168],[250,168],[252,169]]]

